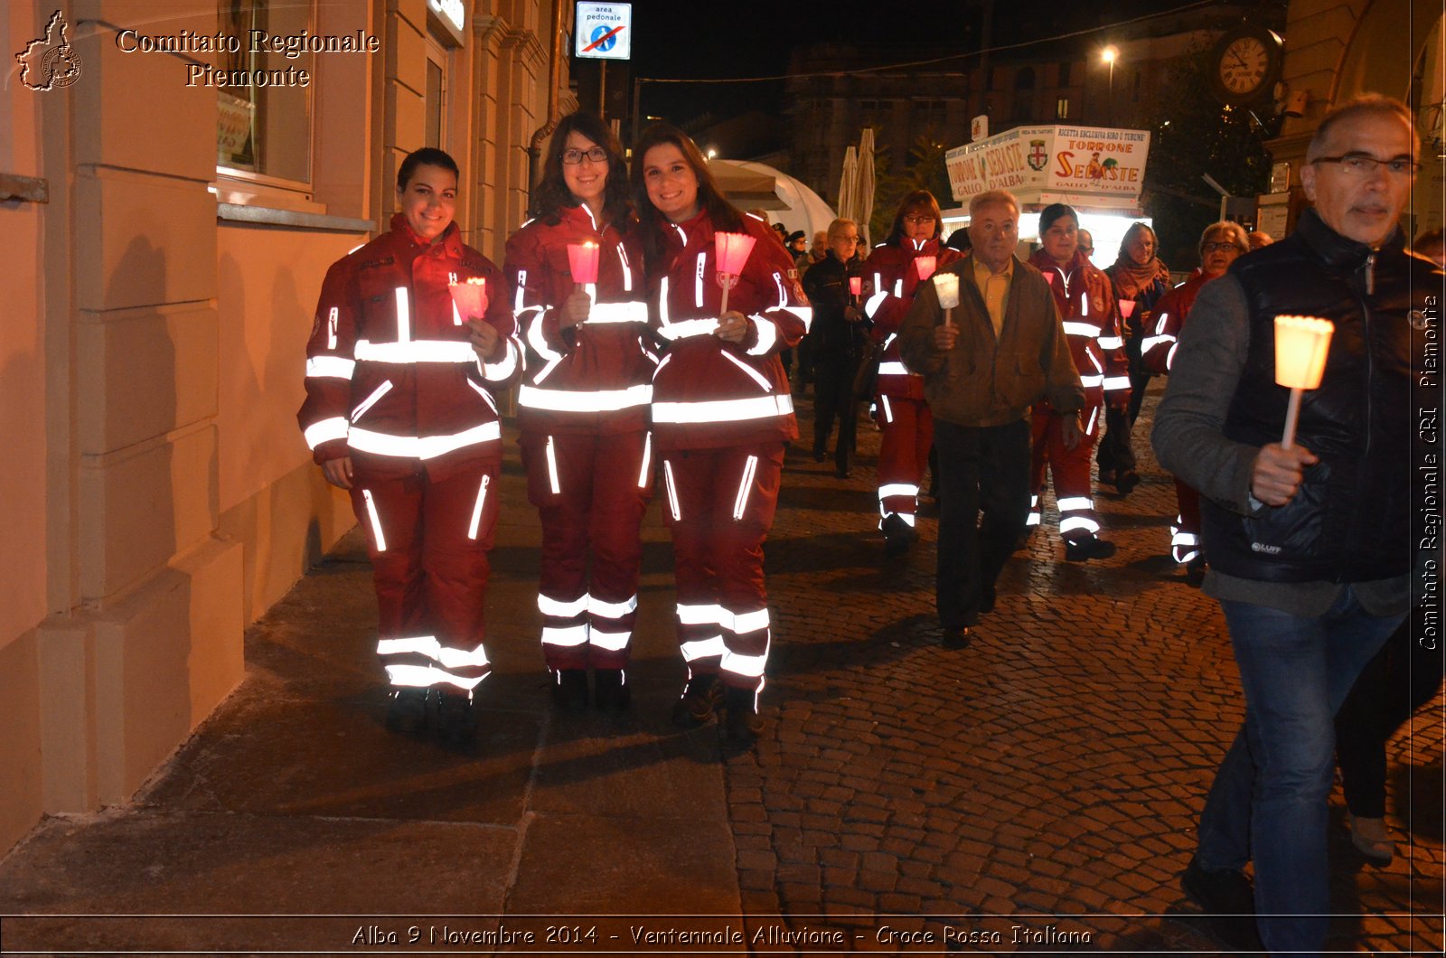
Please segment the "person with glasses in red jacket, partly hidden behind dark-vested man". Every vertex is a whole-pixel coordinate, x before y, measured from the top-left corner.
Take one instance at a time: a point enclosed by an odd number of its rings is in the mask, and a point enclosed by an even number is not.
[[[1155,304],[1154,328],[1141,344],[1141,362],[1150,373],[1170,372],[1180,330],[1200,288],[1223,276],[1235,258],[1249,250],[1249,240],[1238,223],[1220,220],[1205,229],[1200,234],[1200,268]],[[1186,567],[1190,582],[1197,583],[1205,577],[1206,561],[1200,551],[1200,493],[1176,478],[1176,501],[1180,512],[1170,527],[1170,554]]]

